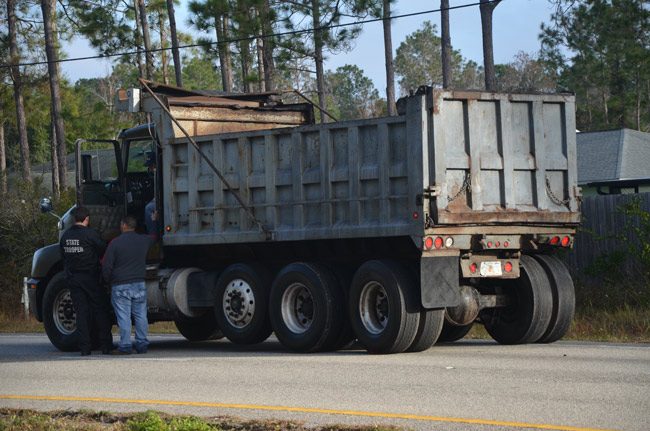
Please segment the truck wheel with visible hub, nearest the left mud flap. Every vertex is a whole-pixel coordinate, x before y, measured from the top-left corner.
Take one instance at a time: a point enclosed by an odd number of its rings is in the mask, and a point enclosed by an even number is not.
[[[361,265],[352,280],[348,311],[352,329],[370,353],[403,352],[418,332],[415,285],[392,261]]]

